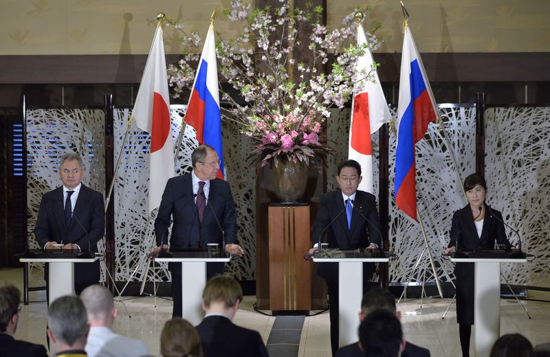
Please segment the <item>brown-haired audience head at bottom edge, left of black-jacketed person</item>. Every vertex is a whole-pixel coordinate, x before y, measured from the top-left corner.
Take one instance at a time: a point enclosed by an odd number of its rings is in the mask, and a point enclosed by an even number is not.
[[[201,340],[197,329],[182,318],[166,321],[160,334],[163,357],[201,357]]]

